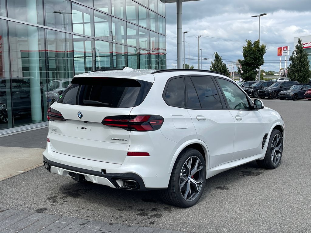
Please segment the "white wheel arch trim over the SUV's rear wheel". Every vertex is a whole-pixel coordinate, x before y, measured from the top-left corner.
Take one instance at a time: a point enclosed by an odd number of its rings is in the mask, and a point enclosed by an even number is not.
[[[209,153],[208,153],[208,149],[207,149],[207,146],[206,144],[203,142],[203,141],[200,141],[200,140],[190,140],[188,142],[185,142],[183,144],[181,144],[179,146],[179,148],[176,150],[173,158],[172,158],[172,161],[171,161],[171,164],[169,166],[169,174],[172,173],[172,170],[173,170],[173,167],[174,167],[174,164],[176,162],[176,159],[178,158],[178,156],[180,155],[180,153],[186,149],[186,148],[190,148],[190,149],[196,149],[197,151],[199,151],[204,160],[205,160],[205,165],[206,165],[206,168],[208,169],[209,167]]]

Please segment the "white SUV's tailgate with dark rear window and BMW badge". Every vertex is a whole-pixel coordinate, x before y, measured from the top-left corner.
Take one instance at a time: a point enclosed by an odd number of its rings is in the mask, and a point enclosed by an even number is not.
[[[52,114],[61,114],[64,118],[50,121],[52,150],[122,164],[129,148],[130,131],[101,122],[105,117],[128,117],[132,108],[142,103],[151,85],[151,82],[121,78],[73,80],[51,106]]]

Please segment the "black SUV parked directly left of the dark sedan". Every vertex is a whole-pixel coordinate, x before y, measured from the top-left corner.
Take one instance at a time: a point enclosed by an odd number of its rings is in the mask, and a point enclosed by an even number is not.
[[[269,87],[265,87],[258,91],[258,96],[262,99],[268,97],[270,99],[277,99],[280,91],[290,89],[292,85],[299,84],[297,81],[276,81]]]

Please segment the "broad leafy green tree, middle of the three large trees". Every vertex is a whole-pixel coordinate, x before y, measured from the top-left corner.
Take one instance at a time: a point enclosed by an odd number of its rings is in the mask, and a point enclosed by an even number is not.
[[[252,41],[246,40],[246,46],[243,46],[244,60],[239,59],[241,67],[238,67],[238,72],[243,81],[254,81],[258,74],[259,66],[263,65],[263,55],[265,55],[267,45],[260,45],[259,40]]]

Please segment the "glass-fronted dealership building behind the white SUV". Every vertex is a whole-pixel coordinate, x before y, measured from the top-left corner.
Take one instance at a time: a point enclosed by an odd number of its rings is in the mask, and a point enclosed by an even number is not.
[[[0,130],[47,121],[74,75],[166,69],[164,0],[0,0]]]

